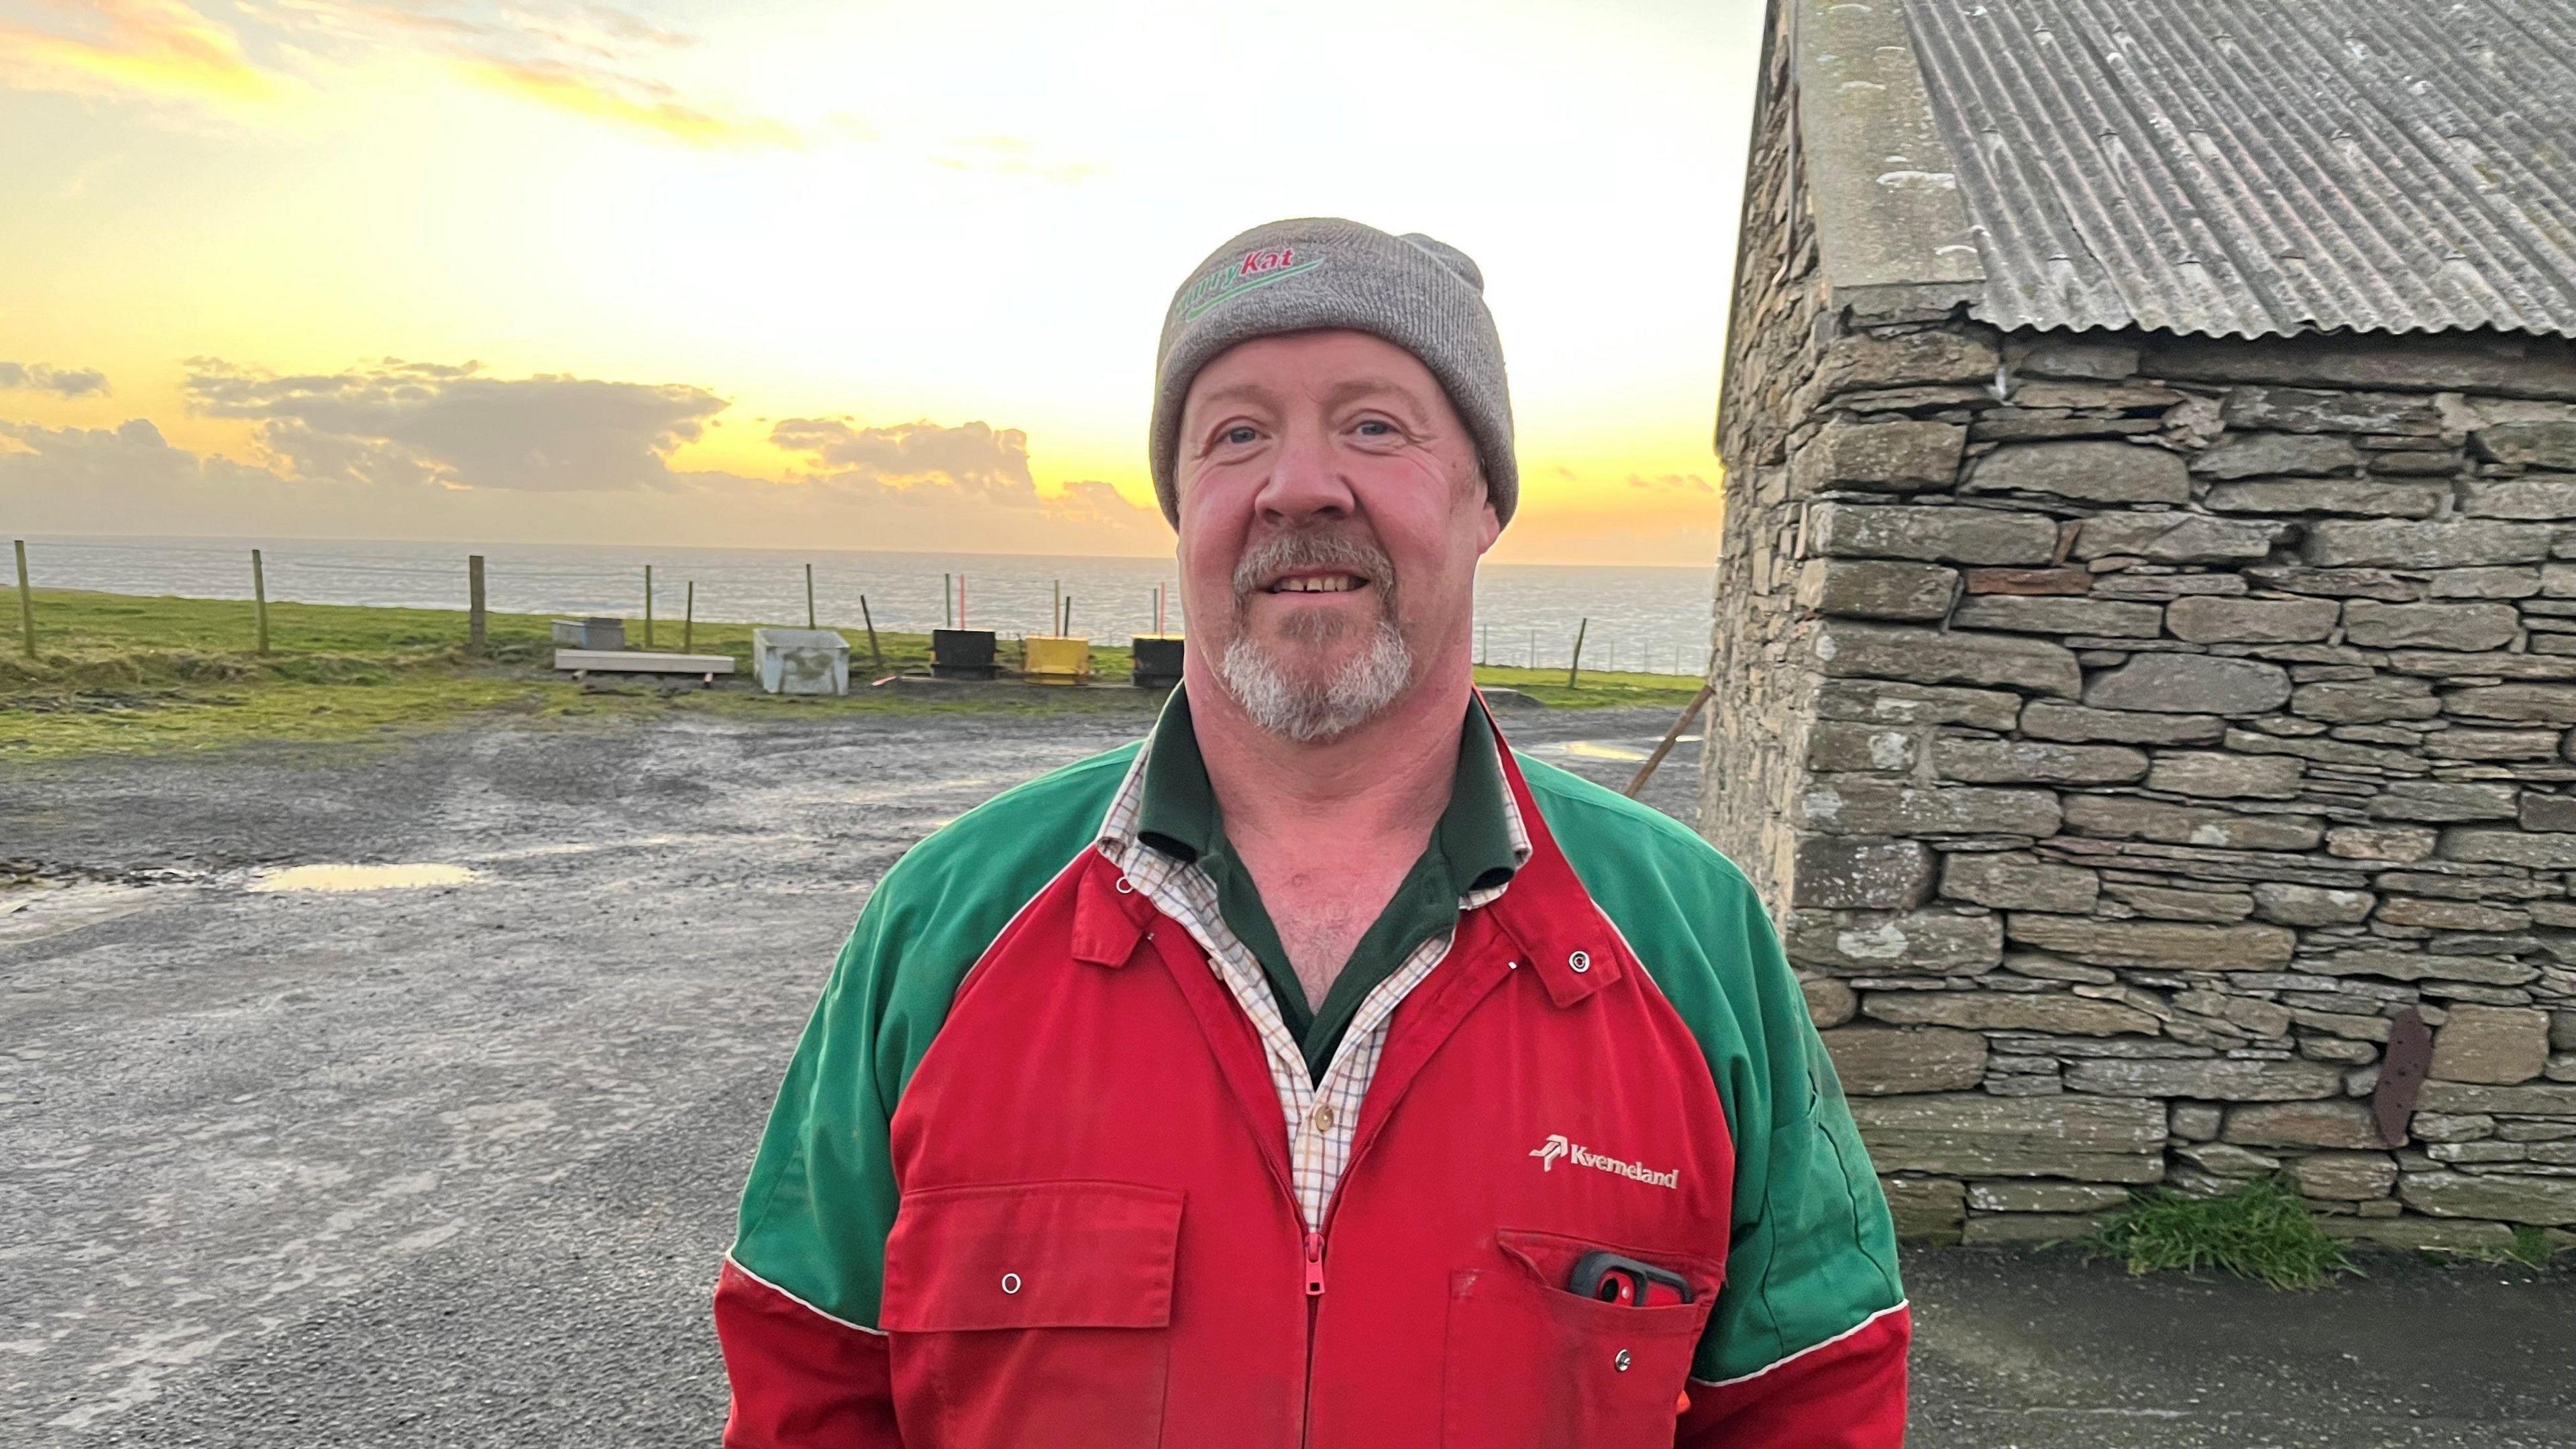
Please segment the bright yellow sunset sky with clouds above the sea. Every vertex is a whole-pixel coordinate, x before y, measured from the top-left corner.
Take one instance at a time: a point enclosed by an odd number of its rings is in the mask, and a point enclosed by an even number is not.
[[[1759,0],[0,0],[0,531],[1154,554],[1236,229],[1471,253],[1499,559],[1705,565]]]

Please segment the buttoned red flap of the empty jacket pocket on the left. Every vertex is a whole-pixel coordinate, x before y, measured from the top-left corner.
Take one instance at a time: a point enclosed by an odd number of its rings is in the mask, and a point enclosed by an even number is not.
[[[886,1235],[896,1333],[1164,1328],[1180,1194],[1136,1183],[992,1183],[904,1194]]]

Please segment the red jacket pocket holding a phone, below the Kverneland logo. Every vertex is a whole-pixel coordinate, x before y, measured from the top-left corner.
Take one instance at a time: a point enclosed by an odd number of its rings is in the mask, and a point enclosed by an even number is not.
[[[1440,1441],[1450,1449],[1672,1444],[1690,1356],[1718,1302],[1718,1271],[1558,1232],[1507,1227],[1494,1238],[1502,1263],[1450,1274]],[[1595,1248],[1680,1271],[1692,1299],[1623,1307],[1577,1297],[1566,1279]]]

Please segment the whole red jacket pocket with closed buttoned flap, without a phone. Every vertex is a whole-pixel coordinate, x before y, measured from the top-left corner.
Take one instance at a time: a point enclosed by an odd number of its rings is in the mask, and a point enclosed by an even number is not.
[[[884,1299],[904,1444],[1154,1444],[1177,1253],[1180,1194],[1167,1189],[904,1194]]]

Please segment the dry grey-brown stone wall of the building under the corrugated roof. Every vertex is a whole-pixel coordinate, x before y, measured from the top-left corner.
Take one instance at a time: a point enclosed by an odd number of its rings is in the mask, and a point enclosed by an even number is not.
[[[2576,353],[1860,325],[1772,111],[1703,828],[1906,1230],[2576,1225]]]

